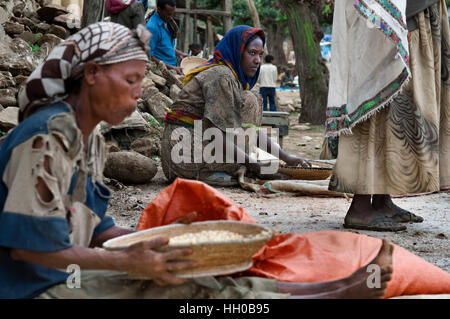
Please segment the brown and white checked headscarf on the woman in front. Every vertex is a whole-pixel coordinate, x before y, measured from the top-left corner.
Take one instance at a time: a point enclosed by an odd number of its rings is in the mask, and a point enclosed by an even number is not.
[[[87,26],[56,46],[19,92],[19,122],[44,105],[64,100],[71,81],[80,79],[88,61],[100,65],[148,61],[150,33],[111,22]]]

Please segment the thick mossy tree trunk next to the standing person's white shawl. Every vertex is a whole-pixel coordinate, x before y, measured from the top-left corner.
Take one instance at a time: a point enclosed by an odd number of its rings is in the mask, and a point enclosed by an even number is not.
[[[323,36],[318,16],[311,4],[281,0],[294,44],[295,68],[299,76],[302,111],[299,122],[324,124],[329,72],[320,52]]]

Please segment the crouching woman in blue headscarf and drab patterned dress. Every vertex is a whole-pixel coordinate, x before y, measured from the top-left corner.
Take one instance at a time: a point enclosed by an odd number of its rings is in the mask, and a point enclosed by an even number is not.
[[[246,129],[246,133],[253,129],[256,134],[261,125],[262,107],[250,90],[258,80],[264,43],[263,30],[233,27],[217,44],[213,58],[188,72],[166,115],[161,157],[169,181],[183,177],[211,185],[236,185],[242,166],[256,177],[280,177],[276,169],[262,174],[260,164],[251,162],[252,138],[245,145],[227,138],[234,129]],[[288,165],[308,164],[285,153],[261,130],[256,135],[259,145],[278,152]]]

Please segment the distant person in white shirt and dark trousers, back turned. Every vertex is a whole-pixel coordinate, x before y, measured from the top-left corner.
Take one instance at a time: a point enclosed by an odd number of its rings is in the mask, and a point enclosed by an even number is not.
[[[266,55],[266,63],[261,65],[258,82],[260,85],[259,93],[263,97],[263,110],[267,111],[267,98],[269,98],[270,111],[276,112],[275,88],[277,87],[278,72],[273,60],[272,55]]]

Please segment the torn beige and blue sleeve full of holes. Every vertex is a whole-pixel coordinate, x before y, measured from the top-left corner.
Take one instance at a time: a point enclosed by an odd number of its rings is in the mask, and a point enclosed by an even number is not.
[[[37,139],[41,147],[33,146]],[[8,196],[0,214],[0,246],[42,252],[72,246],[64,203],[73,170],[74,163],[51,134],[36,135],[13,150],[2,176]],[[51,199],[41,198],[38,179]]]

